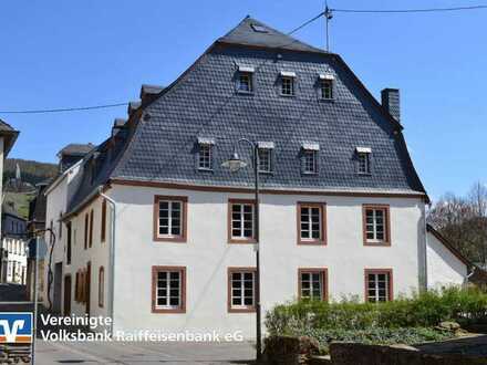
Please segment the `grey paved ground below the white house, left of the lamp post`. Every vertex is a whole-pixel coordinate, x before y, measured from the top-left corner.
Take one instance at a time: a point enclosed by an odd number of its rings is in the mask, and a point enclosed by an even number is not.
[[[37,365],[252,364],[250,343],[53,343],[38,341]]]

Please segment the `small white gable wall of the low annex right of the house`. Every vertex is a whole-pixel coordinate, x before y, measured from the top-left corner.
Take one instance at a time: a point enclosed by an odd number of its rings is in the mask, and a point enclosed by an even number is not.
[[[458,260],[434,234],[427,234],[428,288],[460,285],[467,275],[467,265]]]

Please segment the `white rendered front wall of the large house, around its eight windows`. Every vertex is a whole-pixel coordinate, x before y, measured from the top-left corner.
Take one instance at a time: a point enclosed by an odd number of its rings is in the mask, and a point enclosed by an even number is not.
[[[251,195],[114,186],[117,201],[115,264],[115,330],[244,331],[255,335],[253,313],[228,313],[227,269],[255,267],[252,244],[227,242],[229,198]],[[153,241],[155,195],[188,197],[187,243]],[[327,202],[328,244],[297,244],[297,202]],[[387,204],[391,247],[364,247],[362,205]],[[418,289],[424,247],[424,202],[416,198],[261,197],[262,313],[298,293],[298,268],[328,268],[329,293],[364,296],[364,269],[393,269],[394,295]],[[153,314],[153,265],[187,270],[186,313]]]

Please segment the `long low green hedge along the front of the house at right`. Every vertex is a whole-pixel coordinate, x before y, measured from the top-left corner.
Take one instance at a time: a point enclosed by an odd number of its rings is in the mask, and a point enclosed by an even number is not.
[[[266,316],[272,335],[303,330],[370,330],[433,327],[443,321],[460,324],[487,319],[487,294],[476,289],[448,288],[415,293],[386,303],[299,301],[277,305]]]

